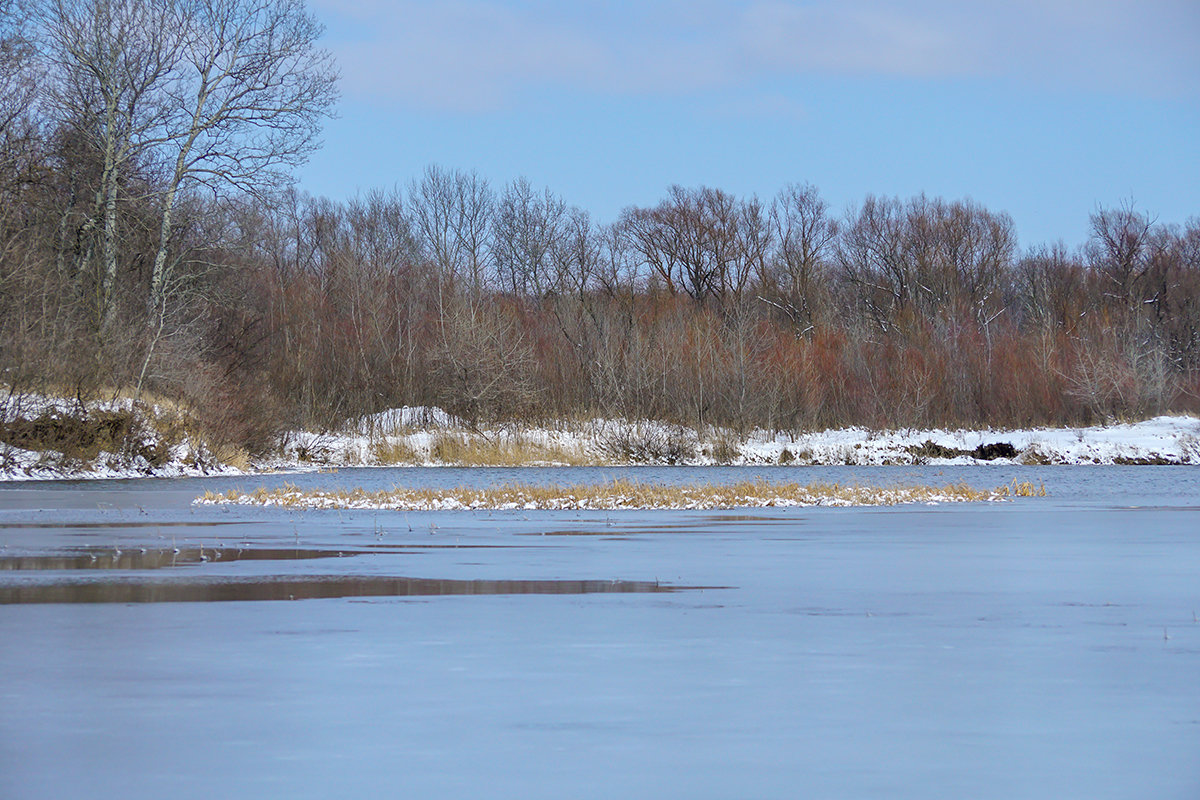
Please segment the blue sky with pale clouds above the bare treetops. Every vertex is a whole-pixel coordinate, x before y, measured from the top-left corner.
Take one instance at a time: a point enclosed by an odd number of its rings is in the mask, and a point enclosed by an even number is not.
[[[310,0],[340,118],[300,173],[346,199],[427,164],[526,176],[601,222],[672,184],[970,197],[1022,245],[1098,205],[1200,215],[1200,2]]]

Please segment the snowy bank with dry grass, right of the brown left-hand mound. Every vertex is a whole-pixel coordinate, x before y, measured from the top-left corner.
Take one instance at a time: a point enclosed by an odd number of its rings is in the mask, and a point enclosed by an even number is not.
[[[404,409],[396,419],[412,419]],[[289,434],[270,463],[341,465],[571,464],[1200,464],[1200,419],[1159,416],[1086,428],[988,431],[844,428],[808,433],[592,420],[554,428],[468,431],[451,420],[366,434]]]

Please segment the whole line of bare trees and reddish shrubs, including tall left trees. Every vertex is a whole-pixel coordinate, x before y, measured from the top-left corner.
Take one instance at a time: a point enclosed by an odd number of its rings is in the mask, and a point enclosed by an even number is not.
[[[1200,219],[1021,248],[971,200],[667,190],[600,223],[430,167],[290,187],[336,101],[296,0],[0,0],[0,368],[252,450],[401,404],[803,429],[1200,410]]]

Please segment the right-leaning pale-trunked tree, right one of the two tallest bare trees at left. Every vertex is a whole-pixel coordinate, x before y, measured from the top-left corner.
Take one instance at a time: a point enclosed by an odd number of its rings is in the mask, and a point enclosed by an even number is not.
[[[260,193],[286,184],[286,169],[316,149],[337,100],[332,58],[317,46],[323,29],[301,0],[182,0],[172,14],[182,42],[164,92],[173,160],[151,308],[164,301],[179,193],[193,186]]]

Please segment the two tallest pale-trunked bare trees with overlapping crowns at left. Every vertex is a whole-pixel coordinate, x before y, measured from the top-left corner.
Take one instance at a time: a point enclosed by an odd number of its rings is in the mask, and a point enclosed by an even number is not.
[[[322,28],[301,0],[43,0],[37,18],[50,107],[102,164],[84,227],[101,231],[104,327],[121,192],[136,172],[157,207],[146,305],[161,319],[181,257],[181,196],[262,193],[316,146],[337,97]]]

